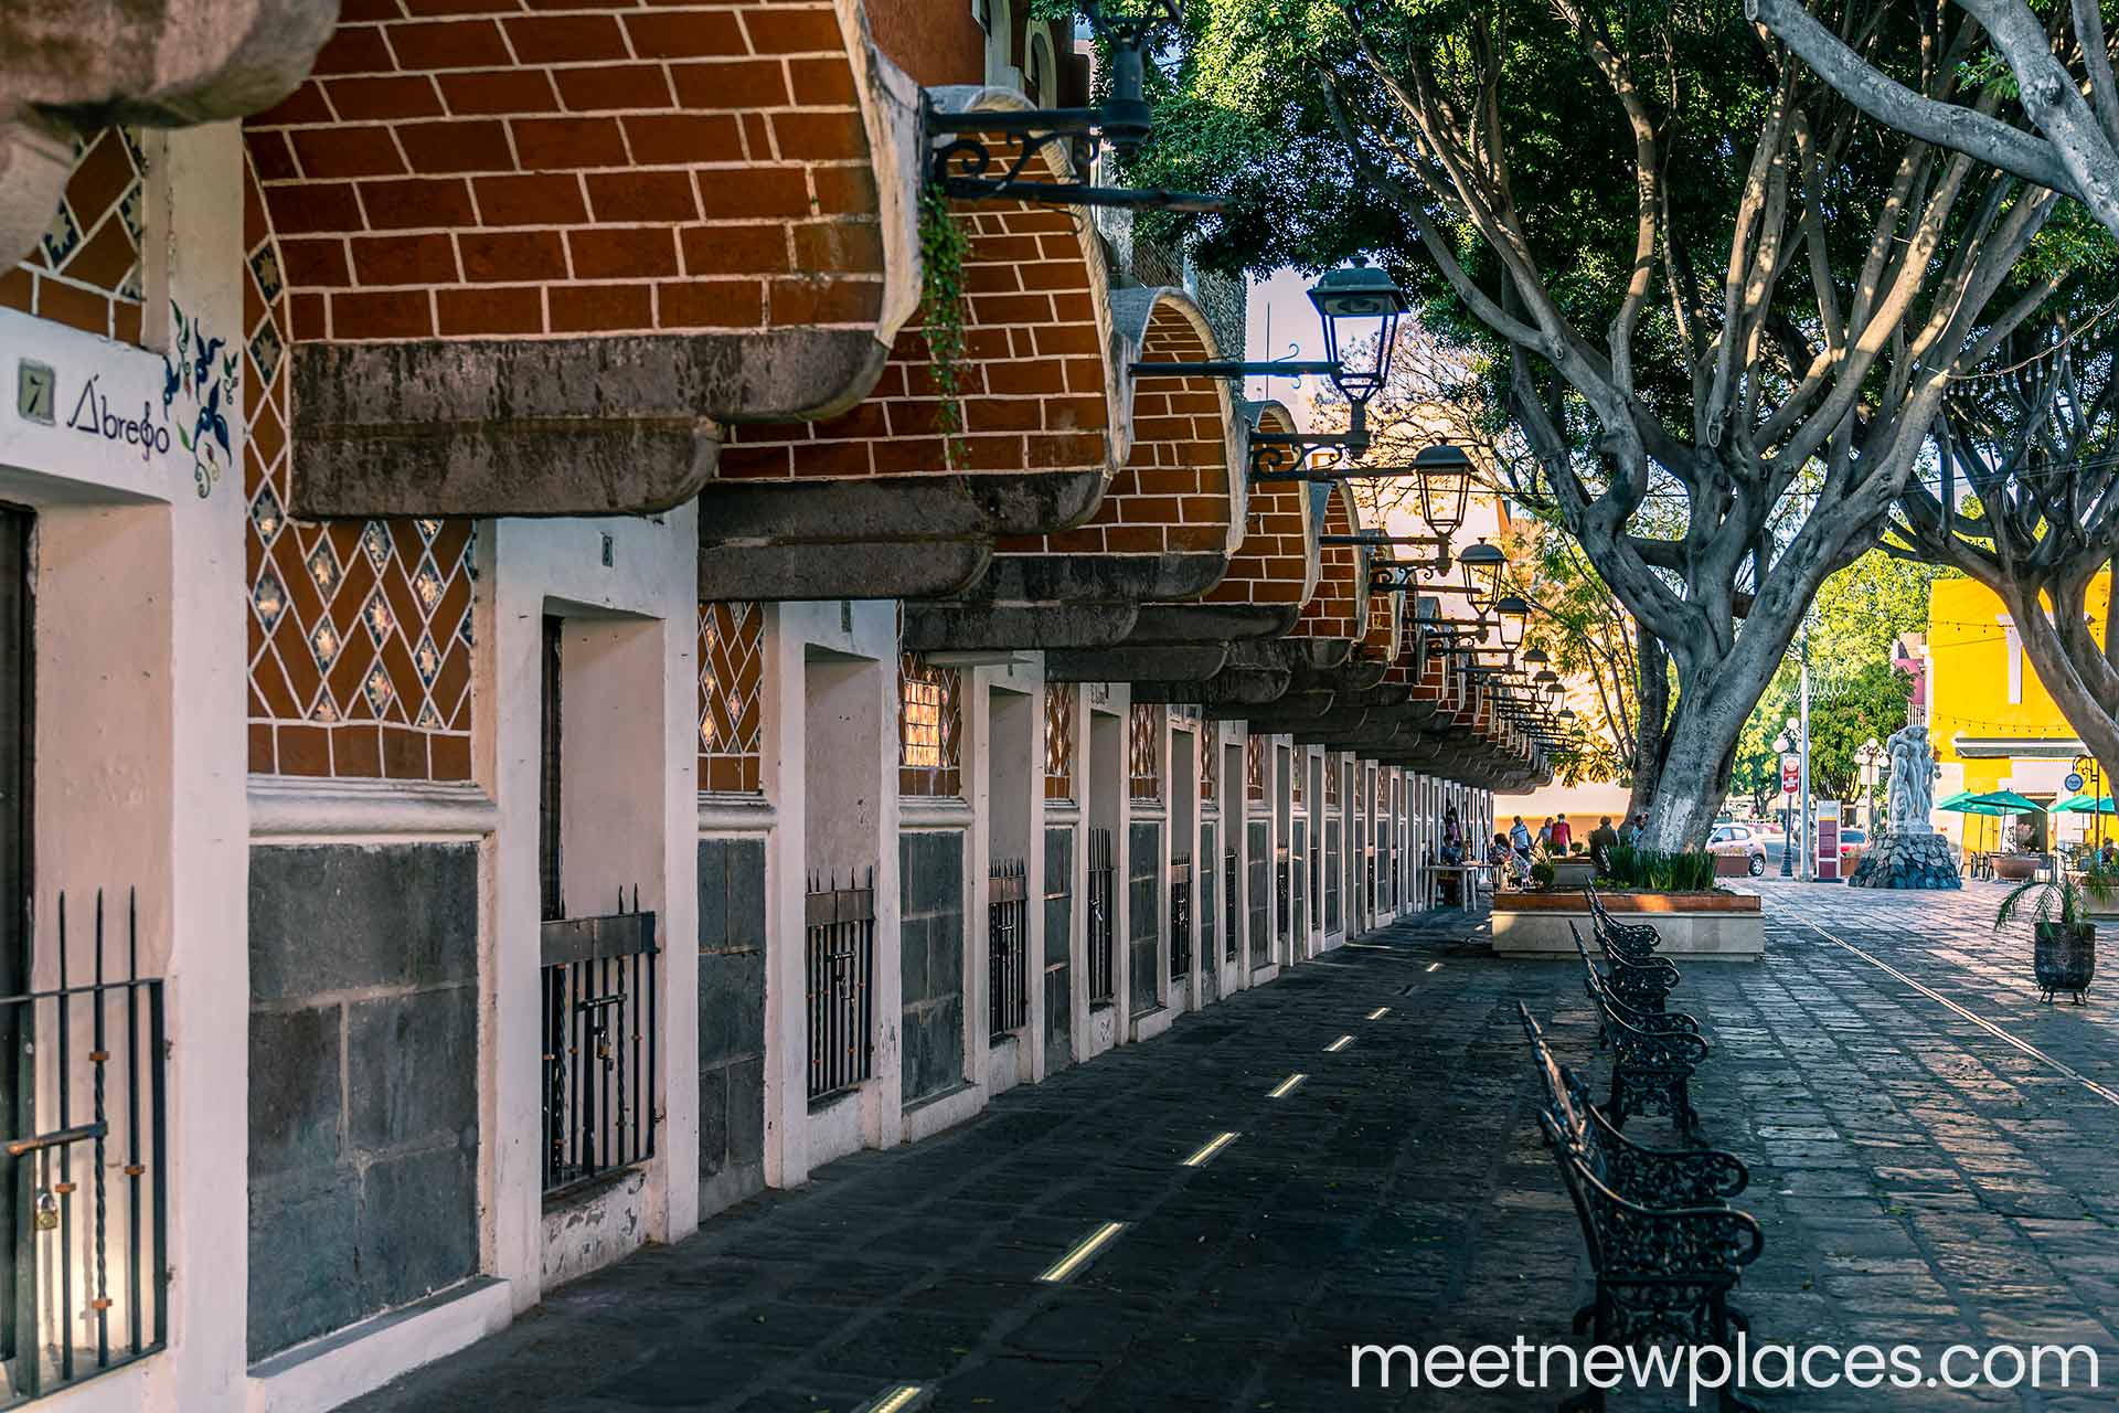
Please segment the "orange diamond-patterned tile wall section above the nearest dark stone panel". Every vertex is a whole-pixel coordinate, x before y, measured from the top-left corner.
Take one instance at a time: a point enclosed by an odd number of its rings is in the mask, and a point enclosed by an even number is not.
[[[288,519],[288,307],[248,176],[244,239],[250,769],[470,780],[475,525]]]

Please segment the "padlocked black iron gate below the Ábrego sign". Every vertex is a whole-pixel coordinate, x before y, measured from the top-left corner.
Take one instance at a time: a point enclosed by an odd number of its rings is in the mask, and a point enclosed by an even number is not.
[[[66,894],[57,930],[55,985],[0,998],[0,1063],[21,1133],[0,1148],[13,1167],[13,1267],[0,1288],[11,1405],[159,1354],[170,1339],[163,983],[140,974],[133,894],[123,979],[108,974],[100,890],[89,981],[76,981],[68,955]]]

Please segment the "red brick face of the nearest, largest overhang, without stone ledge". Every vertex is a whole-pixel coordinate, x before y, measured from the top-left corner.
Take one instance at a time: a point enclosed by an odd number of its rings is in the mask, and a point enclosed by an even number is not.
[[[345,0],[248,121],[297,339],[873,324],[829,0]]]

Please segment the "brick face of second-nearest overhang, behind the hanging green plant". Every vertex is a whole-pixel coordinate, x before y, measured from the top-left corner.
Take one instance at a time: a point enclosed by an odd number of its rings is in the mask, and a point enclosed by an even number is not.
[[[1030,176],[1049,176],[1043,159]],[[954,470],[1085,470],[1110,462],[1104,282],[1074,216],[958,203],[964,256],[962,462]],[[1093,242],[1093,235],[1089,237]],[[924,324],[898,333],[869,400],[831,422],[731,428],[725,479],[894,477],[951,470]]]

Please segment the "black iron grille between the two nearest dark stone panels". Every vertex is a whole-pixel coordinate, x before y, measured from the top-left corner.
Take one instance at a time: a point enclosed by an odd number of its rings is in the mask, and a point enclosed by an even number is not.
[[[655,1157],[655,913],[542,926],[545,1193]]]

